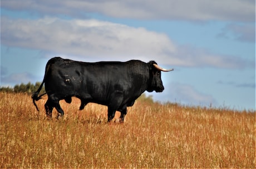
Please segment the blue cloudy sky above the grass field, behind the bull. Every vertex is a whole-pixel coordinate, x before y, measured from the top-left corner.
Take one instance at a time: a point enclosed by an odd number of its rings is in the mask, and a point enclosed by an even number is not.
[[[56,56],[155,60],[174,68],[155,100],[255,110],[255,1],[1,0],[1,86]]]

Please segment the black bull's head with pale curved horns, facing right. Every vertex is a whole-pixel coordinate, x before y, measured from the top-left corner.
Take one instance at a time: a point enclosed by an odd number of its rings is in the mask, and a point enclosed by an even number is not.
[[[172,71],[174,69],[164,69],[161,68],[155,61],[149,62],[149,73],[150,80],[149,85],[147,86],[147,91],[152,92],[162,92],[164,90],[163,82],[161,79],[161,71]]]

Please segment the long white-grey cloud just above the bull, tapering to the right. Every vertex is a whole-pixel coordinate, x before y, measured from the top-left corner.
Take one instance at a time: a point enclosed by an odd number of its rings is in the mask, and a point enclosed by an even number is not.
[[[191,46],[178,46],[163,33],[95,19],[46,17],[27,20],[2,17],[1,25],[1,43],[4,45],[45,50],[69,58],[156,60],[166,65],[218,68],[244,68],[247,65],[240,58],[213,54]]]

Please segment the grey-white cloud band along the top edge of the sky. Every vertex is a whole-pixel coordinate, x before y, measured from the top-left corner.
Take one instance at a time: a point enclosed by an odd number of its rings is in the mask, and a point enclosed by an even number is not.
[[[85,17],[87,13],[100,13],[110,17],[132,19],[255,21],[255,1],[250,0],[2,0],[1,6],[12,10],[28,10],[42,15],[73,17]]]

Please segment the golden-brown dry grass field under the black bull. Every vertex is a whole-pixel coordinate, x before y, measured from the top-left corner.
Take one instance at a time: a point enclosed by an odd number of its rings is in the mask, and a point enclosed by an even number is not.
[[[47,98],[40,113],[30,95],[0,98],[1,168],[255,168],[255,111],[138,100],[118,124],[75,98],[60,120],[45,118]]]

